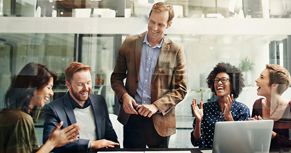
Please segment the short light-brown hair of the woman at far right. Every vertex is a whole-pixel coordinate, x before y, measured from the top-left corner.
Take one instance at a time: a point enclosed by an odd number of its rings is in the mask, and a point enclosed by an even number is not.
[[[290,73],[281,65],[276,64],[266,64],[266,69],[269,69],[270,83],[271,86],[273,83],[279,84],[278,93],[282,94],[288,89],[291,85]]]

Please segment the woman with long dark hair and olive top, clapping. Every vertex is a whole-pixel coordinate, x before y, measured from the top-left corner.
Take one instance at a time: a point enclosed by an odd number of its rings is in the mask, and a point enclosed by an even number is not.
[[[33,113],[54,94],[57,74],[38,63],[28,63],[12,81],[0,113],[0,152],[50,152],[78,139],[77,123],[59,130],[60,122],[40,148],[36,139]]]

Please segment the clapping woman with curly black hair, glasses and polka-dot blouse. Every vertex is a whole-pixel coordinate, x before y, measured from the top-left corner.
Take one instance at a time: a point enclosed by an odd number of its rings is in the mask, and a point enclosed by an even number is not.
[[[191,132],[191,143],[201,148],[212,148],[214,126],[217,121],[247,120],[249,108],[233,98],[237,98],[244,85],[240,69],[229,63],[218,63],[207,77],[208,87],[218,99],[200,107],[193,98],[192,111],[195,119]]]

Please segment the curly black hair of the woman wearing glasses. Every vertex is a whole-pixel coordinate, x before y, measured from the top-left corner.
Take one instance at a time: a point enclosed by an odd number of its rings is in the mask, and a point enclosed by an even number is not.
[[[232,85],[230,94],[233,94],[233,97],[237,98],[241,90],[243,90],[243,87],[245,87],[244,78],[241,70],[235,66],[230,65],[229,63],[220,62],[215,65],[207,77],[206,82],[208,88],[210,88],[213,94],[216,95],[213,79],[220,72],[226,72],[229,75],[230,83]]]

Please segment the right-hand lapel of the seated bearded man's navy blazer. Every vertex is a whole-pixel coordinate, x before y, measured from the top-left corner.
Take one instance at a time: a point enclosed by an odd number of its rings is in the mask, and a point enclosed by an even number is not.
[[[100,108],[97,104],[97,99],[96,98],[92,98],[92,95],[89,95],[89,99],[91,102],[91,106],[93,108],[93,112],[94,112],[94,118],[95,118],[95,126],[96,126],[96,134],[97,134],[97,138],[98,140],[101,140],[101,114],[100,114]]]

